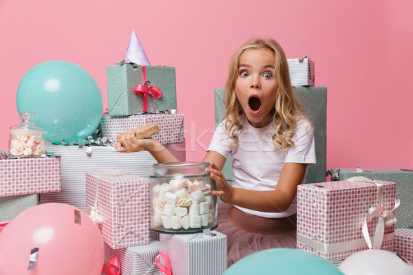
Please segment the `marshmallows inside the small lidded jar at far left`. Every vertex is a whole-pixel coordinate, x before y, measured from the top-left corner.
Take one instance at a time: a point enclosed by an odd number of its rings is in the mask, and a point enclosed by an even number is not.
[[[45,151],[45,141],[37,135],[17,135],[10,140],[9,152],[12,155],[41,155]]]

